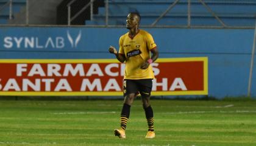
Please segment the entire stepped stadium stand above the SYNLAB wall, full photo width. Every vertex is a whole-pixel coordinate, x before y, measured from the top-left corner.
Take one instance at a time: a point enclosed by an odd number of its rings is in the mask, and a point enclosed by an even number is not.
[[[0,8],[9,0],[0,0]],[[59,24],[68,22],[67,4],[70,0],[29,0],[29,24]],[[77,0],[71,5],[71,16],[76,15],[90,0]],[[84,10],[72,25],[105,25],[106,8],[104,0],[93,3],[93,19],[90,19],[90,7]],[[139,12],[141,25],[152,25],[176,0],[108,0],[108,25],[123,26],[127,13]],[[203,4],[205,3],[205,5]],[[26,0],[13,0],[13,16],[9,20],[9,6],[0,9],[0,24],[26,24]],[[254,0],[191,0],[191,26],[254,26],[256,1]],[[208,9],[207,9],[208,7]],[[210,11],[212,12],[210,12]],[[213,15],[215,13],[215,16]],[[157,26],[187,26],[188,1],[179,0],[163,16]]]

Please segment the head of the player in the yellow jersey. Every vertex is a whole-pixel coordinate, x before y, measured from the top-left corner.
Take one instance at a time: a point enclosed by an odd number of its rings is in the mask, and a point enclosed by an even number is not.
[[[131,12],[126,19],[126,28],[132,29],[140,25],[140,14],[137,12]]]

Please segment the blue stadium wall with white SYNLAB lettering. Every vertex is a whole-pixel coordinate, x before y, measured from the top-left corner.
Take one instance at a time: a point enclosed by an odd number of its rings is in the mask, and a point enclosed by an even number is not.
[[[209,96],[247,95],[253,29],[141,29],[154,36],[160,58],[208,57]],[[118,48],[119,36],[126,32],[101,27],[0,27],[0,58],[113,58],[108,47]],[[251,91],[255,97],[256,66]]]

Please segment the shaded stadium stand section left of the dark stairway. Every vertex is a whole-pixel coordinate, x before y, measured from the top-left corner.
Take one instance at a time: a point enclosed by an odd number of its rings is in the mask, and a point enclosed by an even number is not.
[[[56,24],[57,5],[61,1],[29,0],[29,24]],[[12,0],[12,19],[7,2],[0,0],[0,24],[26,24],[26,0]]]

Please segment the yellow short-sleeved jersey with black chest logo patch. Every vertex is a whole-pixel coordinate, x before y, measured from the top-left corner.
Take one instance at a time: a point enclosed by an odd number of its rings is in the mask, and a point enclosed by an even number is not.
[[[119,54],[126,56],[124,79],[154,78],[151,65],[147,69],[140,69],[140,66],[151,57],[150,50],[155,49],[155,47],[157,45],[152,35],[145,30],[140,29],[133,38],[130,38],[129,32],[120,37]]]

